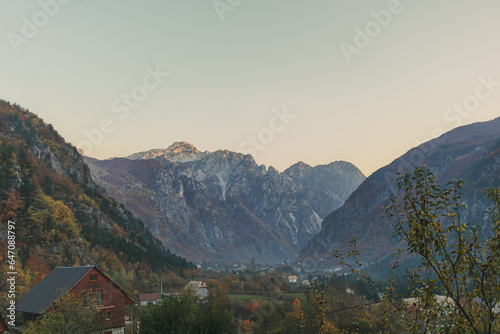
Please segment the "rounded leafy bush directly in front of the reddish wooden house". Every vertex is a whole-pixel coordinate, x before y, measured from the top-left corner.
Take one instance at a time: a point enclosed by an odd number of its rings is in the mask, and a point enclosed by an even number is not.
[[[95,302],[68,293],[52,304],[40,318],[28,323],[25,334],[89,334],[103,329],[102,311]]]

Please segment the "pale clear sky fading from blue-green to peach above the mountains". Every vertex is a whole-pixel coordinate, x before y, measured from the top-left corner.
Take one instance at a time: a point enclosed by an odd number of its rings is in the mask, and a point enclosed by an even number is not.
[[[106,159],[187,141],[365,175],[500,116],[500,2],[2,0],[0,98]]]

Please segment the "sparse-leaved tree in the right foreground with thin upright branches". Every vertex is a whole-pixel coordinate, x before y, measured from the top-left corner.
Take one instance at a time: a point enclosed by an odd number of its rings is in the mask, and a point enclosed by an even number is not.
[[[416,311],[411,315],[406,312],[408,307],[394,293],[394,285],[384,290],[384,298],[405,316],[407,330],[412,333],[500,332],[500,318],[495,313],[495,307],[500,306],[499,189],[486,190],[494,205],[488,211],[489,233],[480,235],[478,226],[462,219],[462,181],[453,180],[441,187],[432,172],[421,167],[399,175],[397,186],[400,195],[391,196],[383,212],[394,235],[406,247],[397,250],[391,270],[394,272],[402,257],[416,259],[416,268],[406,270]],[[353,272],[377,285],[363,269],[356,238],[353,245],[348,257],[355,264],[334,252]],[[445,298],[440,301],[437,295]]]

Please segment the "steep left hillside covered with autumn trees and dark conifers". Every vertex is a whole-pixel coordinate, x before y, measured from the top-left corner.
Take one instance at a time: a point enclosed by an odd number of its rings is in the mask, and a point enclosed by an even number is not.
[[[191,268],[104,194],[76,148],[50,124],[3,100],[0,221],[2,295],[8,221],[15,223],[17,297],[56,266],[98,265],[129,292]]]

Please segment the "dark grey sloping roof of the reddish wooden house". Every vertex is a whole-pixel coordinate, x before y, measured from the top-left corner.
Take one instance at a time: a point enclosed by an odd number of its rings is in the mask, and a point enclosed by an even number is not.
[[[94,266],[55,268],[21,298],[16,304],[16,310],[42,314],[93,268]]]

